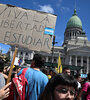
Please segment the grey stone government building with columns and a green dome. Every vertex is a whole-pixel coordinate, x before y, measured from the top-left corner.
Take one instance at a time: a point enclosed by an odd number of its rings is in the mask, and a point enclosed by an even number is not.
[[[12,47],[10,50],[11,58],[13,53],[14,48]],[[34,53],[36,52],[19,48],[17,56],[23,57],[28,62],[32,59]],[[90,72],[90,41],[87,40],[86,34],[82,29],[82,22],[76,13],[76,9],[67,22],[63,45],[54,46],[51,54],[43,52],[42,54],[46,58],[45,66],[47,67],[56,67],[60,54],[63,68],[66,66],[70,67],[72,73],[87,74]]]

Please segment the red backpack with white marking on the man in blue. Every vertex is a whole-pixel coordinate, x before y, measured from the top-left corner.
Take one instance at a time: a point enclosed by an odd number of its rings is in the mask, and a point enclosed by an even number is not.
[[[12,79],[12,84],[10,86],[10,95],[8,97],[8,100],[25,100],[26,85],[28,85],[28,81],[25,78],[25,73],[27,69],[28,68],[24,68],[22,74]],[[28,93],[29,91],[27,92],[27,100],[29,95]]]

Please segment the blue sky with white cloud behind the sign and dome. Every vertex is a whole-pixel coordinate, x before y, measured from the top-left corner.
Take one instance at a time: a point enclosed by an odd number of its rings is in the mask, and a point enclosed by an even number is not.
[[[1,4],[11,4],[17,7],[39,10],[57,15],[55,36],[56,46],[61,46],[68,20],[77,9],[78,17],[82,21],[82,28],[90,40],[90,0],[0,0]],[[0,50],[6,53],[9,45],[0,43]]]

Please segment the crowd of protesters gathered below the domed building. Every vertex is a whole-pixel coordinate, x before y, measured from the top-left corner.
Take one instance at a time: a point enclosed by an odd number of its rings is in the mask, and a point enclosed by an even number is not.
[[[55,69],[42,67],[44,61],[41,54],[35,54],[31,66],[26,70],[28,85],[25,88],[24,100],[90,100],[90,73],[84,79],[80,73],[72,75],[69,67],[58,73]],[[10,93],[12,80],[21,75],[26,67],[15,65],[10,83],[6,84],[10,67],[5,66],[0,57],[0,100],[10,100],[8,98],[13,97]],[[23,99],[18,95],[18,98],[11,100]]]

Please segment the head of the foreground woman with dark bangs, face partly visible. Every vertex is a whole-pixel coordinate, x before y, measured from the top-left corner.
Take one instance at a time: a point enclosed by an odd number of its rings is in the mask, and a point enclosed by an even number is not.
[[[66,73],[56,74],[45,87],[38,100],[74,100],[77,82]]]

